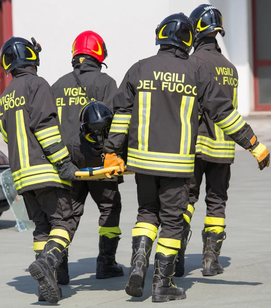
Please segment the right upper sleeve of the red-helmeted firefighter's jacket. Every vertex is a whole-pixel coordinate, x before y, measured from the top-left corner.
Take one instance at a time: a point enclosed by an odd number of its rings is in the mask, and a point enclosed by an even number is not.
[[[115,80],[107,74],[102,74],[95,80],[93,89],[94,98],[99,102],[103,102],[113,110],[113,98],[117,90],[118,88]]]

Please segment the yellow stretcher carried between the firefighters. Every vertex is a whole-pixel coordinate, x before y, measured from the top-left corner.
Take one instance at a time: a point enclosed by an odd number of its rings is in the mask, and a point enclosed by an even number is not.
[[[75,175],[78,180],[96,180],[96,179],[107,179],[107,177],[105,176],[106,173],[109,173],[111,178],[114,178],[115,172],[118,173],[118,176],[134,174],[134,172],[127,170],[127,166],[124,166],[124,172],[120,171],[119,166],[113,166],[113,167],[108,167],[108,168],[104,168],[104,167],[83,168],[83,169],[80,169],[80,171],[76,171]]]

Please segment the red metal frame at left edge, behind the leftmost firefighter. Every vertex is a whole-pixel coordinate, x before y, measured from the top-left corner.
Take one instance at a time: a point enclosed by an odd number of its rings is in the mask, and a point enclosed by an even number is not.
[[[12,36],[12,3],[11,0],[0,0],[0,47]],[[0,68],[0,94],[10,83],[12,77],[7,77]]]

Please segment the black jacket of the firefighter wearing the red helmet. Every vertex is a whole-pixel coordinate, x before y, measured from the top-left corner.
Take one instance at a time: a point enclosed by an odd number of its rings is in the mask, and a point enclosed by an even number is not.
[[[113,110],[112,99],[117,91],[113,78],[101,72],[101,68],[88,59],[74,66],[80,87],[73,72],[62,76],[52,85],[62,127],[62,138],[68,142],[80,132],[79,112],[91,100],[103,102]]]

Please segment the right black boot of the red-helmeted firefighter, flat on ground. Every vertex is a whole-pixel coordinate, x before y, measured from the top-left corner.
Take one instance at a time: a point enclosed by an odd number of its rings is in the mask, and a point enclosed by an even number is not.
[[[100,236],[99,255],[97,257],[96,265],[97,279],[124,275],[122,267],[118,265],[115,259],[118,242],[119,237],[110,239],[107,236]]]

